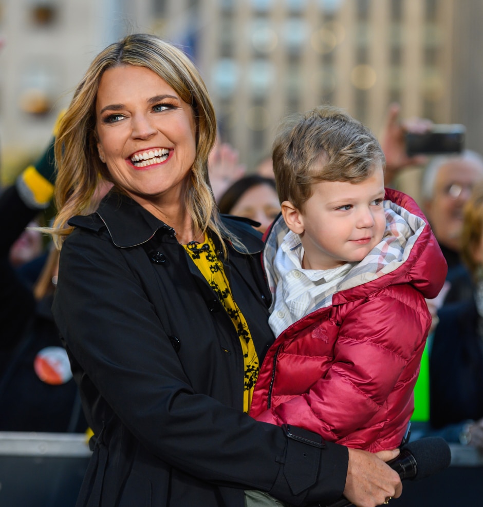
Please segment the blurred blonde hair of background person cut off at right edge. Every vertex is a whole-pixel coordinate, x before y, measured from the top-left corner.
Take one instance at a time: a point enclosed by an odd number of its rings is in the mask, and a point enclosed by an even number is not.
[[[463,227],[461,230],[461,258],[470,269],[474,280],[478,278],[480,263],[474,252],[483,236],[483,183],[473,187],[471,197],[463,208]]]

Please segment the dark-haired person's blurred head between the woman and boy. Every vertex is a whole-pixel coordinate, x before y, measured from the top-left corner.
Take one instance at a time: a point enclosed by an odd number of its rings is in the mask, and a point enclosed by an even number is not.
[[[235,181],[218,201],[220,213],[249,218],[255,229],[265,232],[280,213],[280,202],[273,178],[250,174]]]

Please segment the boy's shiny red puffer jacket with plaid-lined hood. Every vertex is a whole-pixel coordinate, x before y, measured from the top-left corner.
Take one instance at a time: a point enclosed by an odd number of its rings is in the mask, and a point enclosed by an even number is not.
[[[411,224],[401,258],[378,265],[369,278],[349,271],[348,288],[278,336],[262,364],[251,416],[371,452],[400,445],[431,324],[424,298],[439,293],[447,265],[413,199],[391,189],[386,199]],[[272,291],[270,262],[281,228],[283,219],[264,253]]]

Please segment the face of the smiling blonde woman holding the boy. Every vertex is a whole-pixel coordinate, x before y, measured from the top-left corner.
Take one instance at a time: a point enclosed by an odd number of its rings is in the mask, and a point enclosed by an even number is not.
[[[196,155],[193,110],[155,72],[125,65],[103,73],[96,132],[101,160],[135,201],[183,203]]]

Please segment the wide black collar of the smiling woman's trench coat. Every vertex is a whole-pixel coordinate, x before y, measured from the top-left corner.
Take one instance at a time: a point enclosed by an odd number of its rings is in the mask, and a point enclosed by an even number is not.
[[[249,254],[262,251],[262,235],[252,227],[250,220],[221,215],[221,221],[247,248],[247,251],[240,251],[231,245],[235,250]],[[119,248],[141,245],[153,238],[158,230],[170,238],[176,237],[176,231],[171,226],[116,190],[107,194],[95,213],[87,217],[73,217],[69,225],[96,231],[105,226],[113,243]]]

